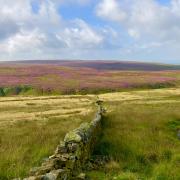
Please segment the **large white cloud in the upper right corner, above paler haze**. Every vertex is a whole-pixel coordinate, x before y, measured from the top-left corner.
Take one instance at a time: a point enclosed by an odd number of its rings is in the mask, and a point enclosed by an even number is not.
[[[155,0],[102,0],[96,8],[98,16],[118,22],[136,39],[180,40],[179,12],[180,0],[169,6]]]

